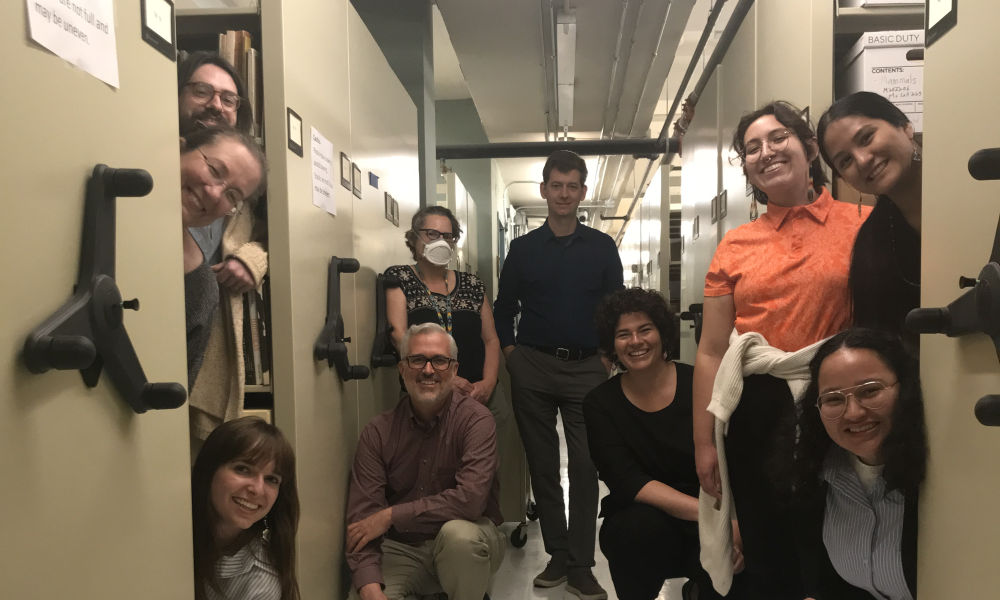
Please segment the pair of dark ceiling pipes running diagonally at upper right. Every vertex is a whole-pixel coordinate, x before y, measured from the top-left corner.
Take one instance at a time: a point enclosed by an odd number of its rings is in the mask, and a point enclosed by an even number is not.
[[[739,32],[740,27],[743,25],[743,19],[746,18],[747,13],[750,12],[750,8],[753,6],[754,0],[739,0],[736,4],[736,8],[733,9],[733,14],[729,18],[729,22],[726,23],[726,28],[722,32],[722,36],[719,38],[718,44],[715,46],[715,50],[712,51],[712,56],[709,57],[708,63],[705,65],[704,70],[701,72],[701,77],[695,84],[694,89],[688,94],[687,100],[691,108],[694,108],[698,104],[698,100],[701,98],[701,94],[705,91],[708,86],[708,80],[711,79],[712,73],[715,72],[715,68],[722,63],[722,59],[725,58],[726,52],[729,51],[729,46],[733,42],[733,38]],[[716,4],[715,9],[721,12],[722,5],[725,4],[725,0],[719,0]],[[635,209],[635,205],[638,204],[639,198],[642,196],[640,192],[642,188],[646,185],[646,181],[649,179],[649,174],[653,170],[653,165],[655,162],[660,164],[669,164],[674,159],[674,155],[680,149],[680,139],[672,137],[667,139],[667,131],[670,128],[670,121],[673,120],[674,114],[677,112],[677,107],[680,106],[681,98],[684,96],[684,90],[687,83],[691,80],[691,75],[694,73],[694,69],[697,66],[698,59],[700,58],[700,53],[705,50],[705,42],[708,41],[709,35],[711,35],[711,29],[715,25],[715,21],[718,20],[719,15],[716,10],[713,9],[712,14],[709,15],[709,23],[705,27],[705,31],[702,33],[701,40],[698,42],[698,50],[695,52],[694,57],[691,59],[691,64],[688,65],[688,70],[684,74],[684,79],[681,82],[681,86],[677,88],[677,96],[674,98],[673,105],[670,107],[670,112],[667,114],[666,121],[663,122],[663,129],[660,131],[660,135],[657,139],[661,141],[668,142],[669,150],[665,153],[666,156],[663,157],[661,161],[650,161],[649,165],[646,166],[646,171],[642,175],[642,179],[639,182],[639,186],[635,188],[635,197],[632,199],[632,204],[629,206],[628,211],[625,216],[628,219],[622,225],[622,228],[618,230],[618,235],[615,236],[615,243],[621,244],[622,238],[625,237],[625,226],[628,225],[629,219],[631,219],[632,211]],[[681,127],[682,129],[687,129],[690,125],[685,117],[681,117]]]

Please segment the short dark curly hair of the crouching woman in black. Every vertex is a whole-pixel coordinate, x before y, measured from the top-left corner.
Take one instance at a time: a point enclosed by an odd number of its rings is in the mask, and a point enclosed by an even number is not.
[[[617,359],[615,330],[622,315],[630,313],[642,313],[649,317],[660,332],[663,351],[669,352],[677,337],[677,323],[667,301],[655,290],[629,288],[608,294],[597,305],[594,318],[597,324],[597,347],[601,353],[609,360]]]

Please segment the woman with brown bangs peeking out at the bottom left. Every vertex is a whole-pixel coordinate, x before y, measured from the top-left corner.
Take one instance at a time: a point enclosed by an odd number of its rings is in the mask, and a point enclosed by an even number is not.
[[[256,417],[217,427],[191,474],[195,600],[299,600],[295,454]]]

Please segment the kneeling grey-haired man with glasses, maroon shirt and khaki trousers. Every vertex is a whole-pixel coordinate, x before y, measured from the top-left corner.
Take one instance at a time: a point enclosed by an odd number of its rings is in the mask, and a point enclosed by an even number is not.
[[[443,327],[410,327],[399,350],[407,394],[354,455],[351,598],[482,600],[504,555],[493,415],[454,387],[458,346]]]

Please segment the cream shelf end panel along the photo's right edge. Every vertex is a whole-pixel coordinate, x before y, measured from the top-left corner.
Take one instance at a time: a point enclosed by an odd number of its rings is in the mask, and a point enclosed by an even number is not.
[[[969,156],[1000,146],[991,118],[1000,80],[1000,13],[993,0],[961,2],[958,25],[927,49],[924,63],[923,306],[943,306],[990,256],[1000,183],[974,181]],[[921,598],[995,598],[1000,589],[1000,431],[980,425],[973,405],[1000,393],[993,344],[983,335],[923,336],[921,374],[931,459],[920,497]]]

